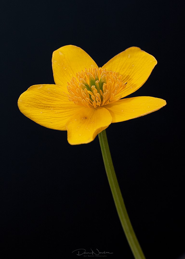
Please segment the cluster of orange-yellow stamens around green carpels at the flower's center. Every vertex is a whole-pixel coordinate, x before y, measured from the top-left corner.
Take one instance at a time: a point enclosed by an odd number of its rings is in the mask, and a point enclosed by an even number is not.
[[[76,77],[67,82],[69,101],[94,108],[119,100],[127,84],[122,81],[122,75],[102,68],[85,68]]]

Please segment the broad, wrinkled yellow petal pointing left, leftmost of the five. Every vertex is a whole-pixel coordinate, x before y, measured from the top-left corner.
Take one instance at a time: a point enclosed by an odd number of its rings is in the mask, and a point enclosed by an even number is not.
[[[66,130],[74,112],[83,109],[69,102],[64,87],[55,84],[33,85],[18,100],[20,111],[36,123],[54,130]]]

